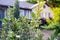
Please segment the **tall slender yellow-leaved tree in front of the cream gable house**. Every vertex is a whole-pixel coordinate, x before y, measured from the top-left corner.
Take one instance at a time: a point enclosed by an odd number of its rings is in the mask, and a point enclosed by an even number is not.
[[[41,25],[40,13],[42,12],[43,9],[39,9],[39,8],[41,8],[44,4],[45,4],[45,1],[40,2],[40,0],[38,0],[38,5],[35,8],[35,13],[32,12],[31,14],[32,16],[31,25],[33,25],[35,28],[39,28]]]

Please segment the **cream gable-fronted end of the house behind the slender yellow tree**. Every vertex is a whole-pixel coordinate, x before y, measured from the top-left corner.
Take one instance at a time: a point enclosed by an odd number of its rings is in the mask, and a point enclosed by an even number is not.
[[[37,6],[38,6],[38,4],[35,4],[34,6],[32,6],[32,11],[34,13],[36,13]],[[49,18],[53,17],[53,12],[49,8],[48,4],[45,3],[40,9],[42,9],[42,12],[40,14],[41,18],[49,19]]]

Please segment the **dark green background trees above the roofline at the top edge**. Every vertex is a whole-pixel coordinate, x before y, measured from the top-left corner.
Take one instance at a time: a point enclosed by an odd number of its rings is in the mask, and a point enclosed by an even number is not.
[[[33,4],[36,4],[38,3],[37,1],[46,1],[46,3],[48,3],[50,6],[53,6],[53,7],[60,7],[60,1],[59,0],[27,0],[27,2],[29,3],[33,3]]]

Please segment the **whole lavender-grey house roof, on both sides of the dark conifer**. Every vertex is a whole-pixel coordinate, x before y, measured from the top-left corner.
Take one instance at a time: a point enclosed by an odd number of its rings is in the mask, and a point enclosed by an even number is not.
[[[4,5],[4,6],[14,6],[14,0],[0,0],[0,5]],[[19,1],[19,7],[20,8],[25,8],[25,9],[31,9],[31,7],[34,4],[28,3],[28,2],[23,2],[23,1]]]

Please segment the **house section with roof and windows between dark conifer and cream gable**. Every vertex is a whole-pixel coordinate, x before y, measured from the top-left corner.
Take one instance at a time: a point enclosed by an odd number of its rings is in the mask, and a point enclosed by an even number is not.
[[[20,14],[22,14],[23,16],[27,16],[28,19],[31,19],[31,12],[32,12],[32,6],[34,4],[28,3],[28,2],[20,2]]]

